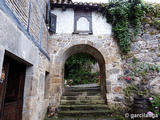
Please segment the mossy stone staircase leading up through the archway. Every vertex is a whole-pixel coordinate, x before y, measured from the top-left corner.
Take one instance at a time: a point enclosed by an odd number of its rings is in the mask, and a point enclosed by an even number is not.
[[[115,120],[107,117],[100,86],[66,87],[58,110],[59,120]]]

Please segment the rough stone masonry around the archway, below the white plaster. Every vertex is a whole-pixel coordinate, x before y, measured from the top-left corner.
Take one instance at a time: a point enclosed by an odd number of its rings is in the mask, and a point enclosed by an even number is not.
[[[94,56],[99,63],[101,87],[105,88],[104,94],[108,104],[112,106],[122,102],[124,84],[118,81],[118,76],[122,74],[121,57],[112,36],[55,34],[50,37],[49,51],[53,66],[52,84],[55,86],[52,91],[57,92],[53,92],[54,96],[58,97],[61,95],[60,91],[63,91],[66,59],[73,54],[85,52]],[[53,103],[58,103],[60,96],[57,97],[52,97]]]

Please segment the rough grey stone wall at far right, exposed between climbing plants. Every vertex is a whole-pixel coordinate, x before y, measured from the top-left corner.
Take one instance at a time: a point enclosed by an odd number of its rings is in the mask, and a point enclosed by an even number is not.
[[[130,63],[133,58],[136,58],[138,62],[160,66],[160,31],[149,24],[144,24],[140,34],[132,39],[129,56],[124,63]],[[160,73],[153,72],[147,79],[149,79],[151,93],[159,94]]]

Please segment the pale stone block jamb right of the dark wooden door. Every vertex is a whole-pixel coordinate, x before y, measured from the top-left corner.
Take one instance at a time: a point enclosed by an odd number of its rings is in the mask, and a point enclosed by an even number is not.
[[[36,75],[36,67],[31,66],[26,69],[22,120],[32,120],[34,117],[36,110],[35,96],[37,95],[38,86]]]

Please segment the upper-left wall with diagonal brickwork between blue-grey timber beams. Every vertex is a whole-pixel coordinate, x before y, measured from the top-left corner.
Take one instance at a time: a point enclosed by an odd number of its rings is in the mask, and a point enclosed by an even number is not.
[[[48,0],[2,0],[0,9],[35,42],[45,54],[48,52],[48,29],[45,24]]]

